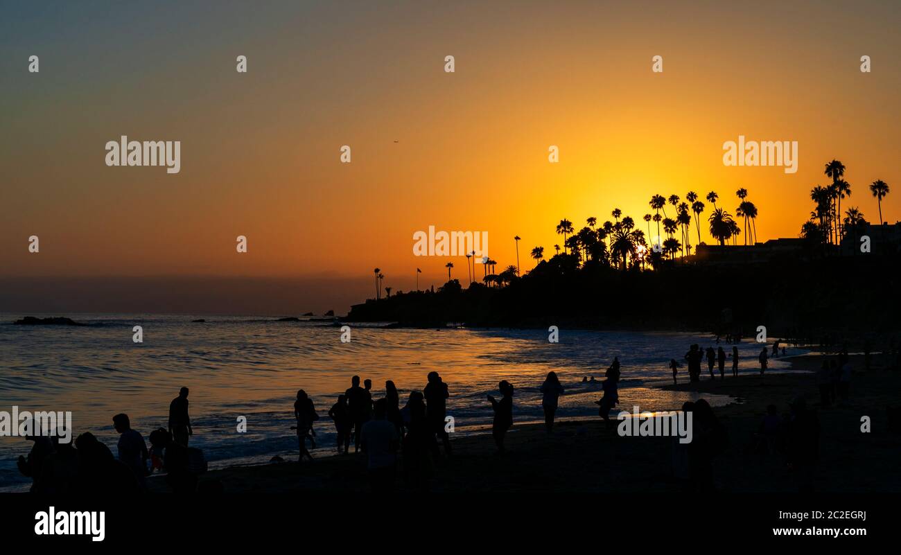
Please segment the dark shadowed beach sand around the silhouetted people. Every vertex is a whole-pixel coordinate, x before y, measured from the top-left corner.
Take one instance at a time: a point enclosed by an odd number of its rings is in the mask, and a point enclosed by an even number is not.
[[[790,360],[793,370],[813,371],[822,364],[818,355]],[[901,476],[897,461],[901,459],[901,433],[887,430],[887,406],[901,405],[897,398],[901,372],[881,368],[878,355],[873,357],[874,368],[866,373],[862,372],[862,356],[852,356],[851,363],[855,368],[851,400],[842,407],[820,407],[813,373],[760,378],[751,368],[743,368],[745,373],[738,378],[727,375],[724,380],[668,388],[736,398],[736,403],[714,409],[729,433],[727,450],[714,460],[714,481],[721,491],[797,490],[780,456],[750,454],[748,450],[767,405],[777,405],[779,414],[783,414],[793,398],[804,396],[807,405],[817,410],[822,429],[815,489],[899,492]],[[863,415],[871,419],[869,433],[860,432]],[[507,454],[499,456],[490,435],[453,439],[454,456],[435,462],[430,489],[619,493],[687,489],[671,476],[670,438],[619,437],[615,426],[606,429],[599,418],[558,423],[552,436],[545,433],[541,424],[514,425],[507,434],[506,444]],[[152,490],[168,490],[159,477],[150,478],[149,482]],[[201,482],[221,483],[226,493],[369,491],[365,459],[352,452],[302,465],[292,460],[214,470],[207,472]],[[408,489],[400,476],[397,487],[400,491]]]

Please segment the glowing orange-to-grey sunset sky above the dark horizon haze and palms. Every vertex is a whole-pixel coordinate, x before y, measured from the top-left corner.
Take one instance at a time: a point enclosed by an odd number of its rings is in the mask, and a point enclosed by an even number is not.
[[[378,266],[395,289],[416,267],[437,287],[448,259],[412,252],[429,225],[487,231],[499,267],[518,234],[527,269],[561,218],[619,207],[643,229],[652,194],[689,189],[733,212],[745,187],[759,239],[795,237],[833,158],[842,210],[878,221],[881,178],[895,222],[901,5],[727,4],[0,2],[0,277],[334,278],[365,295]],[[181,173],[107,168],[123,134],[182,141]],[[797,173],[724,167],[740,134],[798,141]],[[306,305],[346,309],[329,295]]]

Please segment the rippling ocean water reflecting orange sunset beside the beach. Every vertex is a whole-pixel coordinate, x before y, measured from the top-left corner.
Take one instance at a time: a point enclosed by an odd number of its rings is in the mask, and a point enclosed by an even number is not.
[[[278,322],[254,316],[69,314],[87,326],[23,326],[25,314],[0,314],[0,411],[71,411],[74,434],[93,432],[115,453],[113,415],[129,414],[132,428],[148,439],[165,427],[168,404],[180,387],[190,388],[194,435],[211,468],[266,462],[275,455],[296,459],[293,403],[298,389],[314,400],[314,457],[333,452],[335,434],[327,413],[350,378],[370,378],[373,398],[384,396],[385,380],[400,391],[422,390],[435,370],[448,384],[448,414],[455,432],[484,432],[492,418],[488,394],[498,395],[506,379],[516,388],[514,421],[542,422],[539,387],[551,370],[565,388],[559,420],[596,417],[600,381],[614,356],[622,364],[620,408],[678,409],[698,398],[659,388],[671,383],[669,359],[687,380],[682,356],[691,343],[714,346],[714,337],[685,332],[599,332],[560,330],[560,342],[543,330],[386,329],[351,324],[350,342],[341,329],[323,322]],[[30,314],[50,316],[56,314]],[[204,318],[205,323],[192,323]],[[132,341],[141,325],[143,342]],[[731,346],[723,345],[731,351]],[[760,344],[739,345],[741,371],[757,372]],[[788,354],[801,350],[789,349]],[[727,359],[726,372],[731,373]],[[788,364],[770,359],[770,368]],[[704,367],[706,372],[706,367]],[[583,383],[594,376],[595,384]],[[702,375],[703,376],[703,375]],[[735,401],[707,396],[712,405]],[[239,417],[247,420],[238,432]],[[148,442],[149,445],[149,442]],[[0,437],[0,489],[19,489],[28,479],[15,460],[31,442]]]

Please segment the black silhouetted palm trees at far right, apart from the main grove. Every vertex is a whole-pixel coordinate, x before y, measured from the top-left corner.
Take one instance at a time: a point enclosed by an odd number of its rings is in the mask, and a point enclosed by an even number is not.
[[[844,179],[845,166],[841,161],[833,159],[826,163],[824,172],[833,182],[827,186],[816,186],[810,191],[810,199],[815,209],[810,213],[810,220],[801,227],[803,237],[816,236],[827,244],[838,244],[847,234],[850,226],[866,223],[863,214],[856,206],[845,211],[842,219],[842,199],[851,196],[851,184]],[[877,179],[869,185],[869,192],[876,198],[879,210],[879,225],[882,225],[882,199],[888,195],[888,184]]]

